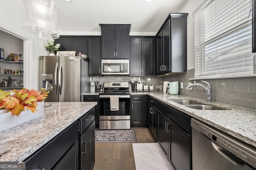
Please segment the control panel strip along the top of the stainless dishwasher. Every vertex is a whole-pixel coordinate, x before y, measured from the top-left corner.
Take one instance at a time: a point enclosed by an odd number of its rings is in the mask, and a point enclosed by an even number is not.
[[[228,135],[206,123],[191,119],[191,127],[202,133],[220,148],[256,168],[256,148]]]

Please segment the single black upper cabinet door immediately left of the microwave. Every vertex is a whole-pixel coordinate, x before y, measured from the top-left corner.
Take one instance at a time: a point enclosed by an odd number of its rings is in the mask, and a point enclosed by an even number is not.
[[[88,39],[88,75],[99,76],[100,72],[100,38]]]

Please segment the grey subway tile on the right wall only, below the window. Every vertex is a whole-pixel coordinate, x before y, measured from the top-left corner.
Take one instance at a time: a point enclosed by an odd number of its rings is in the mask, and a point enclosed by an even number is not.
[[[178,81],[179,85],[180,82],[183,82],[184,88],[180,89],[179,94],[206,100],[206,92],[202,88],[193,86],[192,90],[185,89],[188,82],[194,83],[194,80],[188,80],[189,78],[194,78],[194,75],[194,69],[191,69],[187,70],[186,73],[166,76],[163,81]],[[256,77],[220,78],[204,81],[209,82],[212,86],[213,101],[256,109]],[[202,82],[196,80],[196,83]]]

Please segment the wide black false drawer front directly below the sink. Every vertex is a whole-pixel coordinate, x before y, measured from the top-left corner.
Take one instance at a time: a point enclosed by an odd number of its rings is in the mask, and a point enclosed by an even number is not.
[[[172,121],[174,121],[177,125],[182,127],[185,131],[191,133],[191,117],[185,115],[185,113],[182,113],[181,111],[178,111],[170,106],[167,106],[166,104],[163,104],[162,102],[157,102],[157,106],[159,111],[161,111],[167,117],[172,119]]]

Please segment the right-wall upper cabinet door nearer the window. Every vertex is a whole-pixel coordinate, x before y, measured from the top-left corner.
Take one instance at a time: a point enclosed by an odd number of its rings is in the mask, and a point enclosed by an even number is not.
[[[163,65],[163,73],[170,72],[170,20],[163,28]]]

